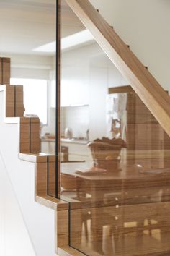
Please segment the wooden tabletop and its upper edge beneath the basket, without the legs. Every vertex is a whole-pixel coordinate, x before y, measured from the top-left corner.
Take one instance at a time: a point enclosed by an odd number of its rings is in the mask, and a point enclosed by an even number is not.
[[[129,202],[130,199],[133,200],[132,197],[152,197],[160,190],[162,191],[161,198],[152,198],[151,202],[167,200],[166,190],[169,189],[170,184],[170,168],[148,170],[135,165],[121,165],[118,170],[108,171],[104,174],[76,173],[76,170],[85,168],[90,169],[91,163],[63,163],[61,164],[61,173],[75,176],[78,189],[83,186],[83,189],[91,194],[93,202],[102,202],[106,193],[120,192],[124,195],[124,202],[121,204],[127,204],[128,200]],[[125,197],[125,193],[130,197]],[[132,203],[134,204],[134,202]]]

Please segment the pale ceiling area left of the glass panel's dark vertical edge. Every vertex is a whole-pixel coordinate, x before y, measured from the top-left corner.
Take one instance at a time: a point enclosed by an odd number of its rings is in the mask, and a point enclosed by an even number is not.
[[[55,0],[0,0],[0,31],[0,54],[37,54],[55,40]]]

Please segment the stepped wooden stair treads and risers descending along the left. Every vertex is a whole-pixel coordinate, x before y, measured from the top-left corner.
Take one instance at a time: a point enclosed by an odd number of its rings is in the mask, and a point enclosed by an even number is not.
[[[62,247],[68,241],[67,226],[63,226],[63,220],[67,219],[68,203],[50,196],[55,192],[55,187],[53,191],[48,191],[49,175],[55,176],[55,155],[40,153],[40,119],[23,116],[23,86],[9,85],[10,59],[1,58],[0,61],[0,97],[4,104],[1,119],[4,119],[4,123],[18,126],[18,158],[35,165],[35,201],[54,210],[55,243]]]

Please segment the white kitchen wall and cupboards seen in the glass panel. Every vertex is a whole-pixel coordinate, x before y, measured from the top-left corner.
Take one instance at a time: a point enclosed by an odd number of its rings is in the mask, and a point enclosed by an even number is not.
[[[81,133],[81,136],[86,137],[88,128],[90,140],[106,136],[108,88],[127,85],[128,82],[97,43],[63,52],[61,71],[61,103],[63,103],[63,98],[66,98],[67,102],[89,104],[89,127],[87,127],[87,122],[84,127],[82,125],[87,119],[84,111],[78,113],[66,108],[65,111],[61,111],[61,131],[63,132],[64,124],[69,124],[74,136]],[[67,86],[63,90],[65,83]]]

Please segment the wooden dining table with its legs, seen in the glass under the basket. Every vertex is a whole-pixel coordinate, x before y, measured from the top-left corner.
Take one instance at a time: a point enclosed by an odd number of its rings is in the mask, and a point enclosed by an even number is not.
[[[164,204],[164,201],[170,198],[170,169],[153,171],[138,166],[122,165],[120,171],[109,171],[106,174],[76,174],[77,169],[90,168],[90,166],[90,163],[63,163],[61,173],[74,176],[77,179],[78,189],[85,189],[86,193],[91,196],[87,203],[71,204],[71,210],[78,213],[89,208],[91,211],[94,251],[102,252],[102,221],[104,221],[104,216],[107,216],[106,212],[109,213],[109,216],[115,218],[115,227],[131,220],[137,221],[138,231],[141,231],[143,221],[145,219],[150,220],[153,216],[153,213],[149,212],[149,208],[154,204],[155,209],[158,209],[158,213],[161,214],[161,216],[154,215],[154,218],[158,219],[159,222],[161,218],[162,224],[162,205],[160,203]],[[106,198],[110,196],[112,199],[105,202]],[[140,212],[143,209],[146,210],[146,213],[141,215]],[[169,206],[168,209],[170,213]],[[133,214],[133,210],[136,214]],[[132,218],[128,215],[130,213]],[[169,223],[170,221],[168,221]],[[139,237],[142,239],[141,233],[138,236],[138,242]]]

